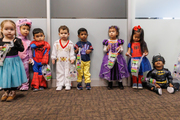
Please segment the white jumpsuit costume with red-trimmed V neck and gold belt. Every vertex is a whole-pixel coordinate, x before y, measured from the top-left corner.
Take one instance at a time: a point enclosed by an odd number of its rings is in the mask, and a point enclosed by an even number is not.
[[[56,86],[71,86],[71,80],[67,78],[69,74],[70,60],[75,60],[74,45],[68,40],[62,46],[61,40],[56,40],[53,45],[51,59],[56,60]]]

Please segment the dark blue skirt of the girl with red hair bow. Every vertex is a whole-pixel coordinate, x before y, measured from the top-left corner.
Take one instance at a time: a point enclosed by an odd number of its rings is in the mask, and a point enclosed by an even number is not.
[[[135,57],[137,59],[140,59],[141,57]],[[143,72],[151,70],[151,64],[149,63],[149,60],[147,57],[143,57],[139,69],[139,75],[143,75]],[[128,62],[128,71],[131,73],[131,58],[129,59]]]

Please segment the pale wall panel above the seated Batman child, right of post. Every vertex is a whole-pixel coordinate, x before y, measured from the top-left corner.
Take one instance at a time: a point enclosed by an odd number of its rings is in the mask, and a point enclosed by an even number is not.
[[[160,53],[166,60],[165,68],[173,72],[180,53],[180,20],[135,19],[133,26],[135,25],[141,25],[144,29],[149,61],[152,62],[153,55]]]

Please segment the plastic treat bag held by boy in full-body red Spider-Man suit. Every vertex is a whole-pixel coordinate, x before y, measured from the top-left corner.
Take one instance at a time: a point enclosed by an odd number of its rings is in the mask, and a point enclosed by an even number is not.
[[[51,68],[49,65],[43,65],[42,66],[42,74],[46,81],[51,80]]]

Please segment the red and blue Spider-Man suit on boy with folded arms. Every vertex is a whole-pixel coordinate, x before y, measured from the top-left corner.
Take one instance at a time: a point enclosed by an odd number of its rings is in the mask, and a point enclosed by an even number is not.
[[[49,53],[50,53],[50,45],[46,41],[32,41],[31,48],[33,51],[33,79],[31,82],[31,86],[35,89],[39,89],[39,87],[47,87],[46,80],[42,76],[42,65],[48,64],[49,61]]]

